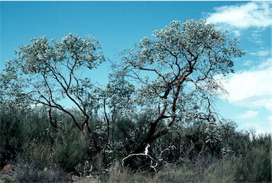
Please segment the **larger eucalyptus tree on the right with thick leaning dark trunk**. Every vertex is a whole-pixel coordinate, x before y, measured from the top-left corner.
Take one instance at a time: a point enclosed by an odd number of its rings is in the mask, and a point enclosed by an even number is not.
[[[116,79],[134,85],[135,109],[154,117],[135,153],[176,122],[215,123],[213,101],[227,93],[219,77],[234,72],[232,58],[244,54],[238,40],[205,20],[171,21],[153,36],[125,49],[114,67]]]

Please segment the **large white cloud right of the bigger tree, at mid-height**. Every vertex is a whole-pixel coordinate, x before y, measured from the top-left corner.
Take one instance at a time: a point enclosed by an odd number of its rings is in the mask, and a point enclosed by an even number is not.
[[[229,91],[227,99],[232,104],[272,111],[272,58],[251,70],[230,75],[222,84]]]

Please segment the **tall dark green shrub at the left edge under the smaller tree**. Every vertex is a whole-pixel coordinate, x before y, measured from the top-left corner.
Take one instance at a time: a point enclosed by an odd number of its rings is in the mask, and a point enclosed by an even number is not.
[[[48,143],[51,139],[51,136],[45,133],[51,128],[46,110],[42,107],[4,111],[4,106],[0,106],[0,123],[1,165],[12,162],[23,151],[27,153],[26,148],[30,148],[34,141]]]

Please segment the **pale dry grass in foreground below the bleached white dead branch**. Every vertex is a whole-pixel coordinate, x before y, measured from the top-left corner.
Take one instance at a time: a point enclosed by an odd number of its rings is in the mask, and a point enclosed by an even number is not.
[[[234,172],[229,160],[212,157],[199,157],[186,165],[166,163],[156,174],[132,173],[115,163],[104,182],[234,182]]]

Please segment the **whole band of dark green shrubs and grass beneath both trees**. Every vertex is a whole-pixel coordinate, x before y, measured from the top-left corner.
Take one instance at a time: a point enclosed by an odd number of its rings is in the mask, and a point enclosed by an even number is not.
[[[116,120],[102,153],[64,113],[55,113],[57,130],[41,106],[12,113],[1,106],[0,119],[1,168],[14,165],[16,182],[72,182],[75,175],[98,182],[271,182],[271,135],[237,131],[231,121],[176,124],[172,133],[150,144],[148,154],[157,166],[150,167],[147,157],[135,158],[133,170],[122,160],[141,140],[147,115]],[[91,121],[103,140],[103,120],[95,116]]]

